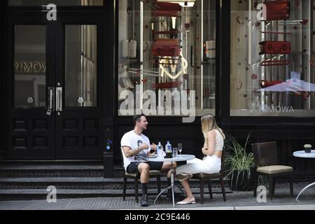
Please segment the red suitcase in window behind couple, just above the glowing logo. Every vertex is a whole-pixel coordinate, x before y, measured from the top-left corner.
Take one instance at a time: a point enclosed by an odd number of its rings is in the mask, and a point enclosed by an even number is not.
[[[156,39],[152,45],[154,57],[179,57],[181,46],[179,39]]]

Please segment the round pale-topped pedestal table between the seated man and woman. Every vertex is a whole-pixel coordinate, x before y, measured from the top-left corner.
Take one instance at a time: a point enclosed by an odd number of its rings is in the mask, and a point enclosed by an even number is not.
[[[194,160],[195,155],[177,155],[174,158],[148,158],[148,161],[150,162],[183,162],[183,161],[188,161],[188,160]],[[176,172],[176,168],[174,168],[174,172]],[[174,188],[177,188],[174,186],[174,172],[171,173],[171,185],[167,186],[164,190],[161,191],[161,193],[155,198],[155,202],[158,200],[158,198],[168,189],[172,189],[172,199],[173,199],[173,207],[175,207],[175,200],[174,200]],[[179,189],[179,188],[178,188]],[[181,189],[179,189],[181,190]],[[182,190],[181,190],[182,191]]]

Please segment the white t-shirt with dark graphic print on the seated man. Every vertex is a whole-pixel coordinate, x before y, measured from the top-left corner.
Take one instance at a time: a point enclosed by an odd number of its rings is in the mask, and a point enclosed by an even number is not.
[[[132,151],[134,151],[134,149],[141,146],[141,144],[148,144],[149,148],[141,151],[137,155],[132,156],[130,158],[127,158],[125,156],[125,153],[123,151],[124,146],[130,147]],[[148,155],[148,152],[150,151],[150,140],[144,134],[138,135],[134,133],[133,130],[130,132],[127,132],[126,134],[124,134],[123,138],[121,139],[120,146],[123,153],[125,170],[127,170],[127,167],[130,165],[131,162],[135,162],[135,161],[144,162],[148,160],[147,155]]]

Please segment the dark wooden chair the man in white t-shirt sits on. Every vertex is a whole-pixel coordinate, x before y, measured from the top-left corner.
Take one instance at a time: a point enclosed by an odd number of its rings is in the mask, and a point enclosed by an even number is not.
[[[123,200],[125,201],[125,197],[126,197],[126,189],[127,189],[127,179],[134,179],[134,194],[136,197],[136,202],[138,203],[138,196],[139,196],[139,190],[138,190],[138,186],[139,186],[139,181],[138,179],[140,179],[140,174],[137,170],[137,172],[135,174],[131,174],[125,171],[125,167],[124,167],[124,158],[123,158],[123,149],[120,148],[120,156],[121,156],[121,162],[123,165],[123,170],[124,170],[124,174],[123,174],[123,179],[124,179],[124,183],[123,183]],[[150,178],[156,178],[157,184],[158,184],[158,194],[160,194],[161,192],[161,172],[159,170],[151,170],[150,171]]]

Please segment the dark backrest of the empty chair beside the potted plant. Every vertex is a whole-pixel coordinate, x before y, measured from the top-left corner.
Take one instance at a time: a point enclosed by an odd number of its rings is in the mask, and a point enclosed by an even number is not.
[[[276,141],[251,144],[253,158],[257,167],[278,165]]]

